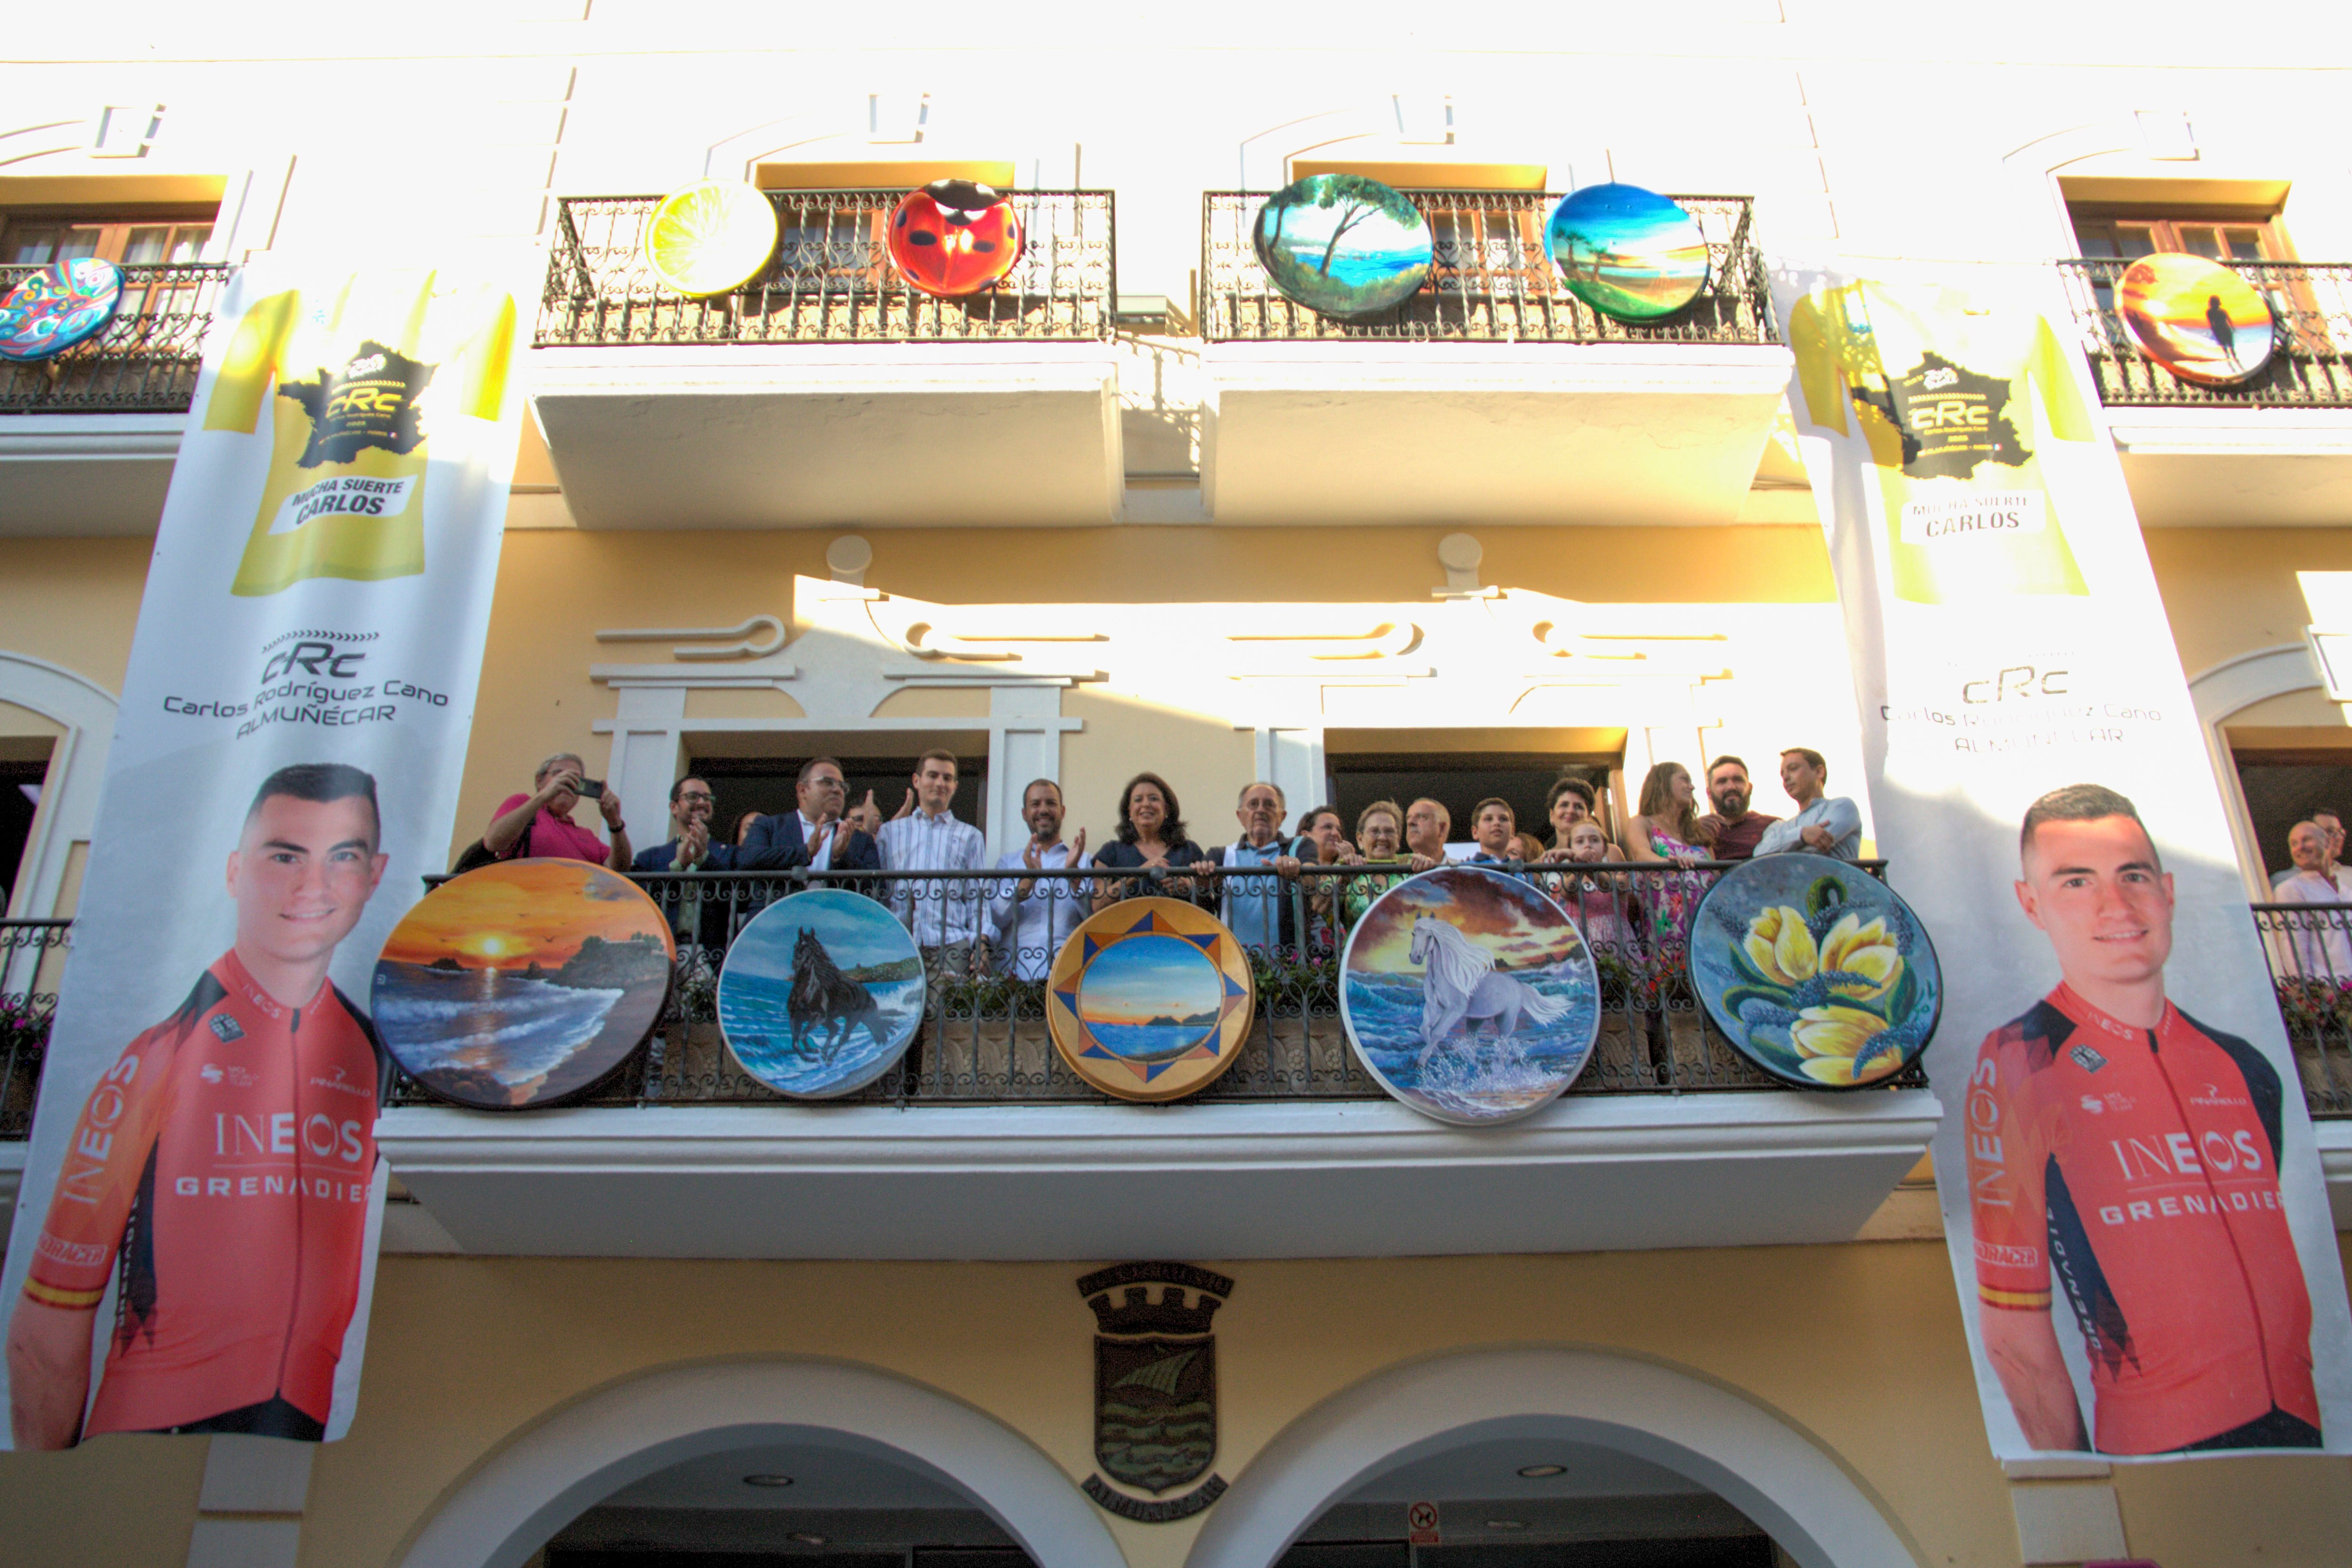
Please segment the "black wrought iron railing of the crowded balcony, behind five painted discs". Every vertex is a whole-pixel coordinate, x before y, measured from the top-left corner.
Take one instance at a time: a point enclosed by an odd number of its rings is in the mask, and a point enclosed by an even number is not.
[[[1884,863],[1870,863],[1877,870]],[[1616,929],[1595,929],[1578,912],[1602,971],[1602,1032],[1590,1065],[1569,1088],[1576,1095],[1757,1091],[1780,1084],[1748,1063],[1705,1020],[1684,976],[1682,940],[1656,936],[1651,912],[1672,900],[1689,910],[1724,865],[1625,865],[1578,867],[1590,872],[1592,898],[1571,912],[1621,910]],[[1526,867],[1538,884],[1559,879],[1559,867]],[[1240,898],[1272,898],[1289,905],[1291,931],[1305,943],[1251,947],[1256,1016],[1237,1063],[1190,1103],[1221,1100],[1381,1100],[1385,1093],[1355,1060],[1338,1018],[1338,950],[1343,936],[1331,905],[1348,884],[1367,896],[1402,877],[1397,867],[1310,867],[1296,882],[1268,872],[1211,879],[1136,872],[1117,879],[1127,893],[1185,893],[1209,903],[1225,891]],[[776,1105],[783,1095],[753,1079],[727,1051],[715,1006],[717,964],[727,943],[769,900],[811,884],[858,886],[887,896],[910,919],[920,938],[962,936],[969,917],[983,933],[997,933],[985,907],[1011,886],[1004,872],[659,872],[635,882],[654,896],[680,931],[677,983],[654,1037],[612,1079],[593,1088],[588,1105]],[[1068,898],[1077,912],[1094,907],[1110,886],[1103,872],[1037,872],[1040,898]],[[1581,891],[1581,889],[1578,889]],[[1002,910],[1011,910],[1009,893]],[[1070,922],[1063,922],[1068,929]],[[974,969],[934,971],[924,1018],[906,1060],[861,1093],[826,1105],[1035,1105],[1103,1103],[1105,1095],[1070,1072],[1047,1034],[1044,973],[1049,945],[1002,943]],[[1893,1079],[1924,1084],[1915,1067]],[[395,1103],[426,1105],[430,1095],[402,1079]]]

